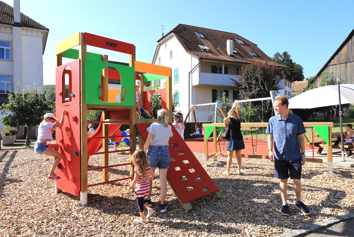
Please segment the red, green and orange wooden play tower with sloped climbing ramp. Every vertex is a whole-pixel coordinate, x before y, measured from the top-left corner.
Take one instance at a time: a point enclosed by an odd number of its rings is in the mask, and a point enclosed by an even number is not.
[[[87,45],[122,52],[129,55],[129,66],[109,63],[108,55],[87,52]],[[72,49],[79,46],[79,49]],[[68,112],[64,125],[56,131],[56,142],[63,154],[61,165],[56,174],[62,176],[56,180],[56,192],[65,191],[80,197],[80,205],[87,204],[88,188],[122,180],[133,179],[132,153],[136,150],[136,132],[139,133],[139,146],[147,138],[146,128],[156,119],[136,119],[135,80],[144,82],[166,79],[166,89],[144,91],[141,93],[144,108],[150,108],[150,98],[160,93],[162,108],[167,109],[168,119],[172,121],[171,68],[135,60],[135,46],[129,43],[89,33],[76,33],[56,45],[56,113],[63,109]],[[62,58],[73,61],[62,64]],[[143,74],[136,74],[141,72]],[[108,82],[108,79],[116,83]],[[65,85],[69,93],[65,95]],[[88,110],[102,110],[100,121],[87,121]],[[99,124],[98,128],[87,135],[87,124]],[[130,127],[130,135],[117,135],[122,124]],[[138,129],[138,130],[137,130]],[[218,188],[202,168],[193,153],[173,128],[170,139],[170,168],[167,181],[185,210],[190,210],[190,201],[212,194],[219,198]],[[125,150],[109,151],[109,138],[130,137],[130,147]],[[102,151],[100,149],[102,148]],[[109,154],[128,151],[129,162],[109,164]],[[102,155],[102,167],[88,169],[88,160],[92,155]],[[127,166],[130,175],[121,179],[109,180],[108,169]],[[89,184],[87,173],[103,170],[102,182]]]

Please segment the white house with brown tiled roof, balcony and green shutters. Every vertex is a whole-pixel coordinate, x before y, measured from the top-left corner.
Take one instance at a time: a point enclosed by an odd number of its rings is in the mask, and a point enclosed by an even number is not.
[[[232,80],[243,64],[273,62],[256,44],[238,34],[179,24],[158,41],[153,64],[171,67],[172,92],[178,95],[176,109],[184,115],[191,105],[215,102],[225,92],[238,97]],[[196,110],[198,121],[214,120],[215,107]],[[188,120],[193,121],[193,116]]]

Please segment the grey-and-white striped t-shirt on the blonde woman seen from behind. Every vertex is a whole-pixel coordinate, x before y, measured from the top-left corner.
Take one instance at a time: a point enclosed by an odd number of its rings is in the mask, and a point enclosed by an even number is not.
[[[161,123],[152,123],[146,130],[153,135],[150,146],[168,146],[169,139],[173,136],[171,125],[165,128]]]

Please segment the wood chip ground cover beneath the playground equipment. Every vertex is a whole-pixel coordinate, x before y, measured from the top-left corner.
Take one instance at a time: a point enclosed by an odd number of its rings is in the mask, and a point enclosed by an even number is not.
[[[113,150],[113,148],[110,148]],[[289,181],[290,216],[280,213],[279,182],[274,164],[265,159],[243,159],[242,175],[222,172],[226,159],[210,159],[207,173],[222,195],[192,202],[186,212],[171,188],[167,189],[166,213],[159,211],[146,225],[135,224],[138,216],[129,181],[89,188],[88,204],[68,193],[54,194],[55,181],[46,178],[52,158],[33,149],[0,151],[0,235],[1,236],[275,236],[304,225],[354,213],[353,168],[306,163],[303,167],[303,201],[313,214],[305,216],[295,207],[295,193]],[[200,163],[204,155],[194,153]],[[109,165],[126,163],[128,156],[110,154]],[[233,160],[235,163],[235,160]],[[102,158],[92,156],[90,167],[101,166]],[[110,180],[129,175],[126,166],[109,169]],[[89,183],[102,182],[102,171],[90,171]],[[159,181],[156,172],[152,201],[159,209]]]

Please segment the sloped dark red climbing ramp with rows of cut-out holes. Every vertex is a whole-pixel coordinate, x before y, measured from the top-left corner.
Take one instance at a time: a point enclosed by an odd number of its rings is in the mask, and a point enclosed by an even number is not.
[[[146,141],[149,124],[136,124],[139,134]],[[170,123],[172,126],[172,124]],[[198,159],[172,126],[173,137],[169,141],[170,168],[167,180],[175,189],[182,203],[190,202],[207,194],[219,191]],[[177,170],[176,170],[177,169]]]

